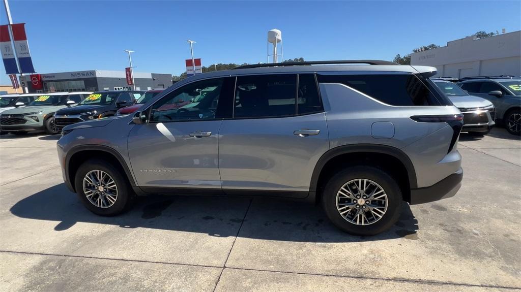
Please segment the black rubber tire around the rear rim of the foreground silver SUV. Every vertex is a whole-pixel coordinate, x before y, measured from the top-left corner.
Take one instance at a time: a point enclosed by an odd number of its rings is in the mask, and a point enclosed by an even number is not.
[[[374,181],[379,184],[387,194],[387,210],[383,216],[374,223],[368,225],[351,223],[340,215],[337,209],[338,191],[345,183],[355,179]],[[402,192],[395,179],[387,174],[387,172],[373,166],[353,166],[338,172],[329,179],[322,193],[322,206],[329,220],[339,229],[353,235],[375,235],[391,228],[400,217],[402,204]]]

